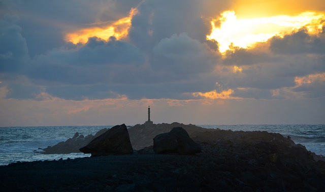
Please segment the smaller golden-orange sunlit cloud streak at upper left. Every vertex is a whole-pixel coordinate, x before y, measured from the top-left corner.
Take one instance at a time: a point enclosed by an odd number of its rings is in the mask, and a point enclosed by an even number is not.
[[[109,37],[114,36],[116,39],[123,39],[128,34],[128,29],[131,26],[132,16],[137,13],[137,9],[131,9],[128,17],[121,18],[113,23],[104,26],[95,26],[90,28],[83,28],[72,33],[67,33],[65,40],[73,44],[85,44],[88,38],[98,37],[103,40],[108,40]],[[96,25],[96,24],[95,24]],[[102,25],[98,23],[98,25]]]

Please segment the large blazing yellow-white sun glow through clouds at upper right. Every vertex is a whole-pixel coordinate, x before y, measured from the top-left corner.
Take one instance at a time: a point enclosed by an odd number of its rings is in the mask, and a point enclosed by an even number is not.
[[[272,16],[238,19],[235,11],[225,11],[221,17],[211,21],[212,33],[207,39],[219,43],[219,51],[224,53],[232,47],[247,48],[257,42],[266,42],[273,36],[283,37],[301,27],[309,33],[317,33],[324,23],[325,14],[304,12],[297,16]],[[220,26],[216,26],[220,22]]]

